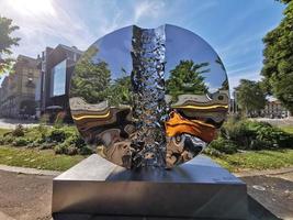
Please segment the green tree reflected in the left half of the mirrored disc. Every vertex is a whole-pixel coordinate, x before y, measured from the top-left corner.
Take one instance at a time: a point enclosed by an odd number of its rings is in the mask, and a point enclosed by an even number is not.
[[[70,96],[82,97],[89,103],[104,101],[109,94],[111,72],[103,61],[92,58],[98,48],[91,46],[78,61],[71,79]]]

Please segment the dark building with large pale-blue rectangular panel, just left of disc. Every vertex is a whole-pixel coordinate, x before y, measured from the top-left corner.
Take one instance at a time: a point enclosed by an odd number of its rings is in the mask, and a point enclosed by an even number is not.
[[[56,48],[46,47],[37,65],[41,77],[35,101],[36,112],[41,117],[49,114],[54,120],[58,112],[64,112],[70,119],[69,84],[76,62],[82,52],[77,47],[59,44]]]

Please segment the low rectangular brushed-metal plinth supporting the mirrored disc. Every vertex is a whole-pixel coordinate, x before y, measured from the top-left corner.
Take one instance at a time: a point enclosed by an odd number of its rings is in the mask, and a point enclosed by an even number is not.
[[[248,215],[246,184],[206,156],[170,170],[127,170],[91,155],[53,180],[52,211],[201,219]]]

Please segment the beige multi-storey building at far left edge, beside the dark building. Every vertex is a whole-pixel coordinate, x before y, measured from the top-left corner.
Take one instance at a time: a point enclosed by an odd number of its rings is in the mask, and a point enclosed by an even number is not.
[[[29,118],[35,114],[35,87],[40,77],[37,59],[19,55],[13,70],[1,84],[0,114]]]

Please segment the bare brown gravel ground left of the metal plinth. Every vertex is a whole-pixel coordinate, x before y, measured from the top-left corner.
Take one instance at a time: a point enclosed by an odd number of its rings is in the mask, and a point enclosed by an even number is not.
[[[0,220],[50,219],[52,179],[0,170]]]

